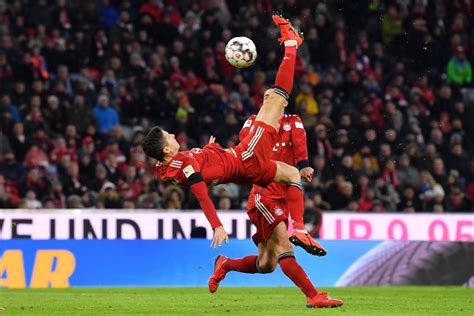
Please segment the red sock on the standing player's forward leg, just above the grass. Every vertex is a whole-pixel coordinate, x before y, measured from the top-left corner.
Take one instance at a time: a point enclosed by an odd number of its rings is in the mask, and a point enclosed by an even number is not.
[[[306,297],[313,298],[316,296],[316,294],[318,294],[318,290],[316,290],[313,283],[311,283],[311,280],[309,279],[306,272],[304,272],[303,268],[298,264],[298,262],[296,262],[294,256],[289,255],[287,257],[280,258],[278,259],[278,264],[280,265],[283,273],[291,281],[293,281],[297,287],[300,288]]]

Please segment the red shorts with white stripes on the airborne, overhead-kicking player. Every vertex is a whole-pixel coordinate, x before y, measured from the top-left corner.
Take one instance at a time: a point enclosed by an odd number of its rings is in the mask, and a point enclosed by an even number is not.
[[[266,187],[273,182],[276,163],[271,160],[272,149],[278,140],[277,131],[262,121],[255,121],[250,132],[234,149],[242,159],[244,182]]]

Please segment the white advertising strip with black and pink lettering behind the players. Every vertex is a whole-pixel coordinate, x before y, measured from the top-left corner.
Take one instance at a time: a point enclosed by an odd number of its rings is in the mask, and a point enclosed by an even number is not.
[[[250,238],[255,232],[245,212],[219,212],[219,217],[233,238]],[[199,226],[212,237],[202,212],[0,212],[0,240],[183,239]],[[474,214],[325,213],[321,235],[328,240],[474,241]]]

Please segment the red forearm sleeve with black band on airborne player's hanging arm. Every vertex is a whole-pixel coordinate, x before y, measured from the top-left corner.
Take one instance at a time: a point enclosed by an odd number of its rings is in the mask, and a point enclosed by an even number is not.
[[[188,178],[188,185],[190,186],[191,191],[198,200],[199,205],[204,211],[204,215],[209,221],[209,224],[211,224],[212,229],[222,226],[222,223],[219,217],[217,216],[217,211],[214,206],[214,203],[212,203],[212,200],[209,197],[207,186],[202,178],[201,173],[195,172],[190,175]]]

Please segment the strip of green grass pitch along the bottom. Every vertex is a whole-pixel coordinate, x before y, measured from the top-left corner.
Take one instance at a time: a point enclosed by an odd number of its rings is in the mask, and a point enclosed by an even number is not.
[[[323,289],[324,290],[324,289]],[[5,314],[474,315],[474,289],[363,287],[326,289],[345,305],[309,309],[296,288],[0,289]],[[1,311],[0,311],[1,313]]]

